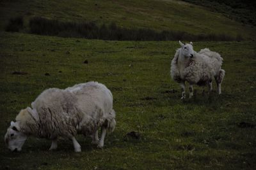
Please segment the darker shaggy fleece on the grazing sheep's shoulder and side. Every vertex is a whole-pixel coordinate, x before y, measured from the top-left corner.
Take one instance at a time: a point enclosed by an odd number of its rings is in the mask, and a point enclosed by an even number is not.
[[[32,103],[39,117],[38,136],[43,138],[74,136],[77,133],[76,126],[81,121],[76,103],[76,96],[61,89],[52,88],[42,92]]]

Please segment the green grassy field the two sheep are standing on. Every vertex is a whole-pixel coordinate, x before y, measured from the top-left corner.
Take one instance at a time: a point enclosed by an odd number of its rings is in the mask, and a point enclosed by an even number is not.
[[[81,153],[74,153],[71,141],[64,139],[56,152],[47,151],[51,142],[45,139],[29,138],[21,153],[8,152],[2,141],[0,169],[256,166],[256,131],[237,126],[256,124],[255,43],[195,43],[195,50],[207,46],[221,53],[227,76],[221,96],[202,96],[202,89],[195,87],[196,96],[182,102],[180,92],[164,93],[180,89],[170,79],[177,42],[94,41],[3,32],[0,39],[0,136],[42,90],[90,80],[106,84],[113,92],[117,121],[103,150],[83,136],[78,137]],[[124,141],[131,131],[140,132],[141,139]]]

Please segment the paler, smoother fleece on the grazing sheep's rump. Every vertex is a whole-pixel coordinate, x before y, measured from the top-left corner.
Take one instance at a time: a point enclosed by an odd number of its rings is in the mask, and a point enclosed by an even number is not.
[[[94,81],[74,85],[68,89],[77,97],[77,108],[82,112],[79,129],[92,133],[106,120],[113,120],[113,96],[110,90]]]

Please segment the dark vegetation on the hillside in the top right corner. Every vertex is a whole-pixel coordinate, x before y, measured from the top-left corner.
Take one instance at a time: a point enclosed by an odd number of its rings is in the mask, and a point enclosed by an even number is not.
[[[252,0],[183,0],[188,3],[205,6],[212,11],[223,13],[225,17],[256,25],[256,1]]]

